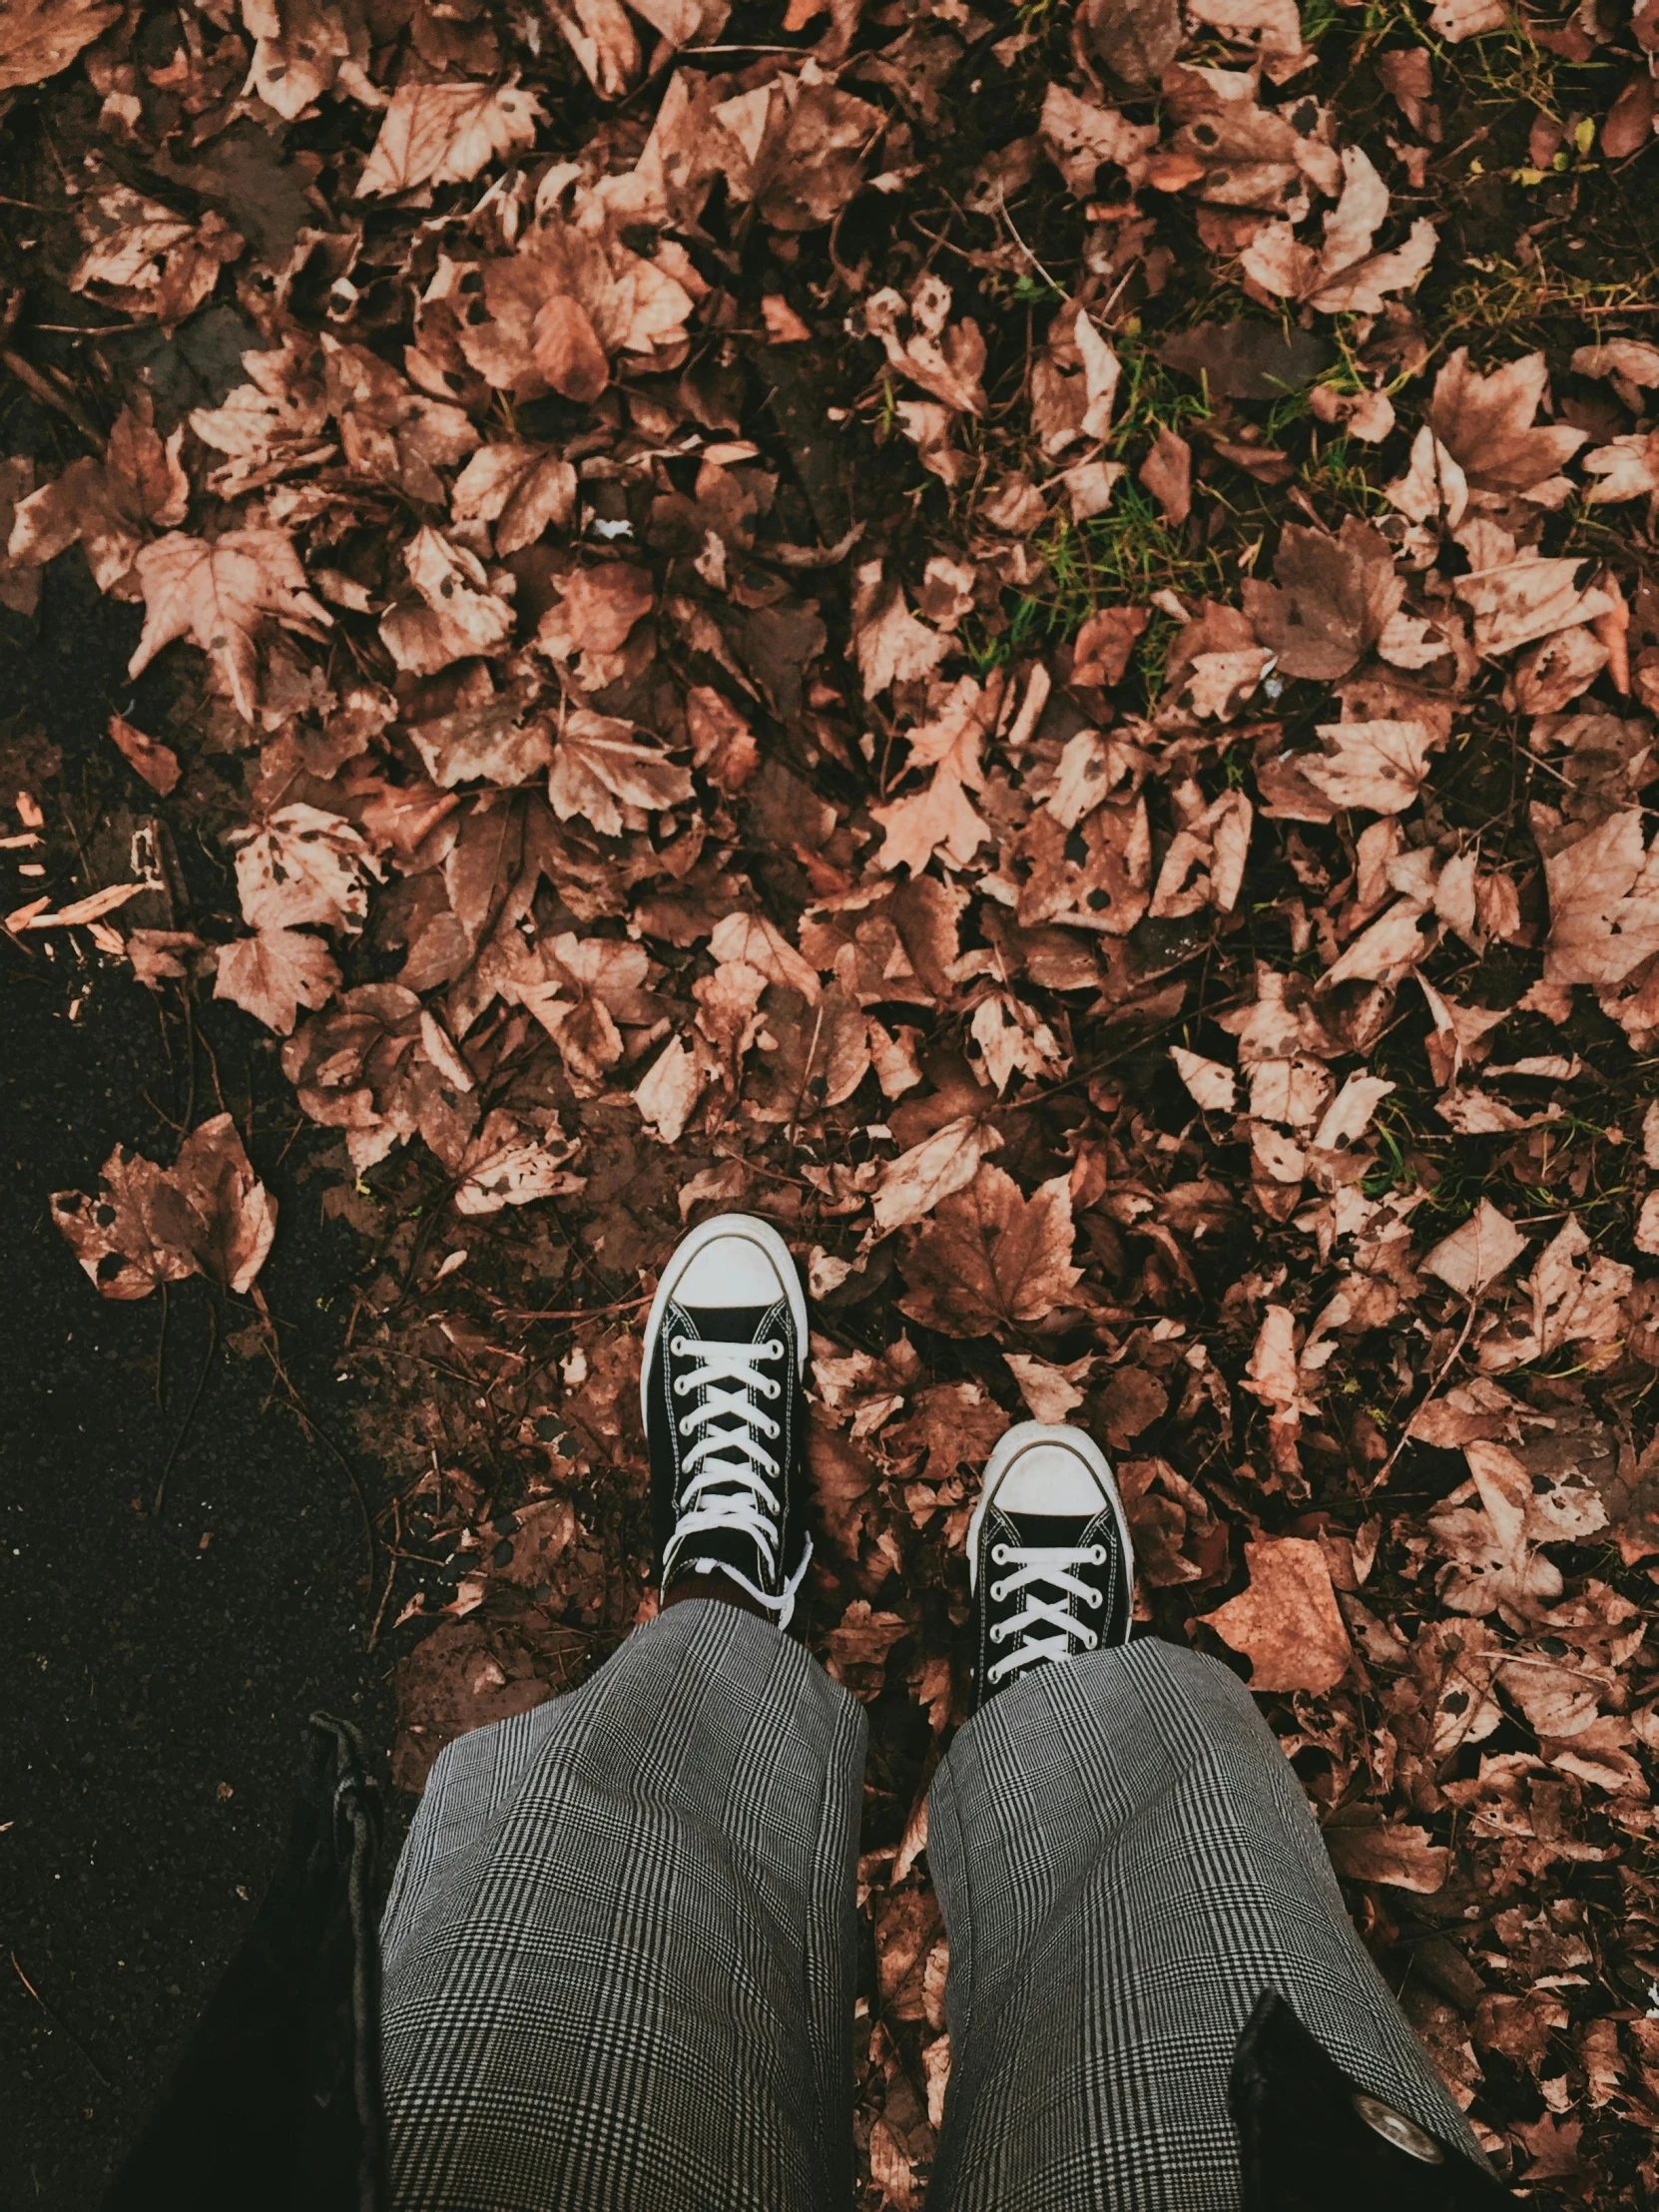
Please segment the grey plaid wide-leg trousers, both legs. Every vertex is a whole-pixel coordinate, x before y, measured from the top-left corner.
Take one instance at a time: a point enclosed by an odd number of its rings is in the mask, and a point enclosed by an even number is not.
[[[865,1717],[686,1601],[434,1767],[385,1916],[398,2212],[845,2212]],[[1217,1661],[1033,1670],[929,1798],[951,1938],[936,2212],[1232,2212],[1234,2042],[1276,1989],[1473,2141]]]

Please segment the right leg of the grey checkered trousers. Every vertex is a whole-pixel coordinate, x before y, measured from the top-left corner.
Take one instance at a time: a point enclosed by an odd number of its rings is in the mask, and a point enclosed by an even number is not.
[[[953,2053],[931,2212],[1237,2212],[1228,2068],[1263,1989],[1374,2095],[1467,2139],[1214,1659],[1130,1644],[1002,1690],[933,1778],[929,1863]]]

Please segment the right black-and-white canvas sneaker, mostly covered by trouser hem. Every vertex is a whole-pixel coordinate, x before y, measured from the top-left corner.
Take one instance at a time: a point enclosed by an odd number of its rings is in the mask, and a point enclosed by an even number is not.
[[[969,1522],[973,1694],[1128,1644],[1135,1551],[1099,1444],[1024,1420],[998,1442]]]

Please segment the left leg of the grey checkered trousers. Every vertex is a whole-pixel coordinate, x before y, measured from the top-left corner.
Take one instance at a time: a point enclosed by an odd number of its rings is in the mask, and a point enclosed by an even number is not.
[[[398,2212],[841,2212],[863,1756],[710,1601],[451,1743],[383,1924]]]

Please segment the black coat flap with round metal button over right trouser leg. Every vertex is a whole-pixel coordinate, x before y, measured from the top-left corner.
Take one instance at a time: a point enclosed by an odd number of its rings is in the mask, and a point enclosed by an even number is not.
[[[1272,1989],[1239,2035],[1228,2104],[1241,2212],[1498,2212],[1515,2201],[1486,2166],[1349,2081]]]

